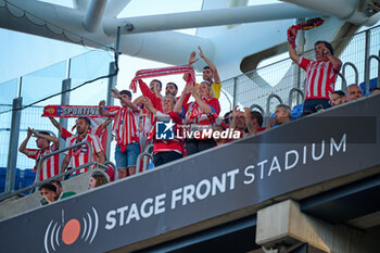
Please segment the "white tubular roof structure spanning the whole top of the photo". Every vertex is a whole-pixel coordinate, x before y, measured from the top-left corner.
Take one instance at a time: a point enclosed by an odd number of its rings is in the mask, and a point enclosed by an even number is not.
[[[0,0],[0,27],[99,48],[115,42],[119,26],[122,53],[177,65],[187,63],[189,53],[201,46],[221,77],[228,78],[241,74],[244,58],[283,45],[294,18],[324,16],[327,25],[307,36],[311,40],[331,40],[342,35],[345,23],[369,26],[380,17],[378,0],[367,0],[360,7],[358,0],[287,0],[268,4],[204,0],[199,11],[118,16],[136,2],[74,0],[74,8],[67,8],[37,0]],[[139,2],[141,10],[145,9],[143,1]],[[185,28],[198,30],[195,35],[174,31]],[[201,63],[195,67],[200,68]]]

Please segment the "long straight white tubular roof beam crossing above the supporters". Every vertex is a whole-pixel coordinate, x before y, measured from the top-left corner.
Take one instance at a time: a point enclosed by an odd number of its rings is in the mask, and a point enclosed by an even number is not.
[[[317,12],[288,3],[237,7],[150,16],[104,18],[104,33],[115,35],[150,33],[241,23],[278,21],[318,15]]]

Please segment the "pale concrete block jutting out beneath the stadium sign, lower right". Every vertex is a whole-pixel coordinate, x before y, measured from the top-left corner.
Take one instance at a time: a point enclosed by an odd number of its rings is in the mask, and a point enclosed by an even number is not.
[[[344,225],[331,225],[306,215],[292,200],[257,212],[256,243],[267,249],[290,249],[307,243],[316,252],[367,253],[366,235]]]

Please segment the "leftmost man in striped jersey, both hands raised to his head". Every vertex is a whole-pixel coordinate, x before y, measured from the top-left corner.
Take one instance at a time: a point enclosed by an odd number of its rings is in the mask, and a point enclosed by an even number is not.
[[[27,149],[26,144],[29,141],[30,137],[37,137],[36,143],[38,149]],[[50,146],[50,142],[53,142],[53,144]],[[23,154],[26,154],[29,159],[36,160],[36,166],[34,167],[34,172],[37,173],[37,164],[38,162],[45,156],[48,155],[60,148],[59,139],[50,136],[48,131],[35,131],[30,128],[28,128],[26,139],[23,141],[23,143],[20,146],[18,151]],[[50,177],[53,177],[58,175],[60,172],[60,156],[53,155],[49,159],[45,160],[41,164],[41,172],[39,180],[42,181],[45,179],[48,179]]]

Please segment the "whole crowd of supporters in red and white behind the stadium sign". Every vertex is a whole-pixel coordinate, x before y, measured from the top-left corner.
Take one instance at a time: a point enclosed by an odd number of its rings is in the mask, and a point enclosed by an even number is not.
[[[312,61],[296,53],[292,39],[295,38],[289,39],[290,58],[307,74],[303,115],[363,97],[357,84],[350,85],[345,91],[334,90],[334,83],[342,62],[333,55],[333,48],[330,43],[317,41],[315,43],[316,61]],[[141,78],[138,80],[138,87],[142,96],[135,100],[129,90],[112,90],[113,97],[121,102],[116,111],[110,112],[105,107],[105,101],[99,102],[99,113],[106,119],[93,130],[91,121],[87,117],[77,119],[75,134],[63,128],[54,118],[50,118],[60,130],[60,138],[66,141],[66,147],[83,141],[88,141],[91,147],[83,144],[68,150],[65,152],[62,165],[59,164],[59,155],[45,160],[41,164],[39,180],[49,179],[66,169],[77,168],[71,174],[71,177],[74,177],[98,167],[90,177],[89,189],[92,189],[113,181],[116,173],[117,178],[122,179],[136,174],[137,169],[141,170],[137,159],[148,144],[153,144],[153,161],[151,162],[154,167],[157,167],[183,156],[223,146],[235,139],[257,135],[292,121],[291,109],[286,104],[276,106],[266,126],[263,126],[262,113],[248,107],[235,106],[221,117],[218,100],[221,83],[217,68],[204,55],[201,48],[199,48],[199,56],[207,64],[203,69],[203,80],[194,84],[190,81],[188,74],[185,74],[183,80],[187,84],[180,94],[178,94],[178,86],[174,83],[166,84],[163,94],[161,80],[153,79],[148,86]],[[192,52],[189,65],[191,66],[197,61],[197,53]],[[372,90],[372,92],[378,91],[379,88]],[[110,165],[99,166],[106,161],[106,143],[101,140],[101,137],[111,122],[113,122],[112,131],[116,141],[116,172]],[[163,131],[160,124],[161,126],[164,124]],[[172,131],[167,132],[168,129]],[[210,135],[204,135],[205,132],[214,134],[210,138]],[[163,134],[165,138],[162,138]],[[172,136],[166,138],[166,134],[172,134]],[[30,137],[37,138],[38,149],[26,148]],[[42,156],[60,149],[59,142],[58,138],[50,136],[47,131],[37,132],[29,128],[20,151],[36,160],[37,167]],[[91,159],[99,164],[87,165]],[[59,186],[51,181],[40,187],[41,195],[48,203],[62,199],[62,186],[59,180],[55,180],[56,182]]]

